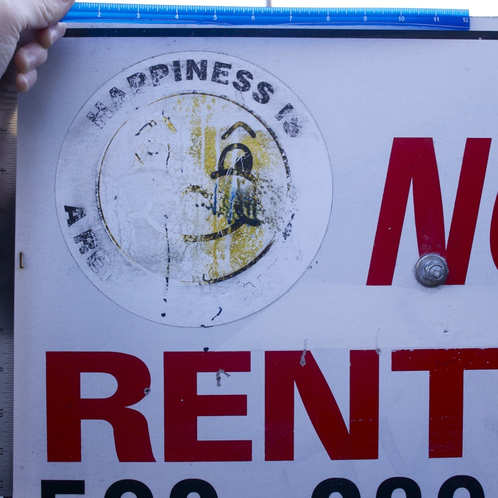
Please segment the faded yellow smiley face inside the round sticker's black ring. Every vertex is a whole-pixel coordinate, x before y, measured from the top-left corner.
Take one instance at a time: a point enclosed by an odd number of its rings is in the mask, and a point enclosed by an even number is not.
[[[272,130],[243,105],[199,93],[137,111],[109,142],[97,179],[113,243],[166,281],[243,272],[285,229],[290,195]]]

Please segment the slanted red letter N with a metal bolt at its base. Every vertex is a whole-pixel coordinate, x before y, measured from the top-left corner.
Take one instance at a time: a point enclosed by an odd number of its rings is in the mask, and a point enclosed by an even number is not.
[[[490,147],[491,138],[467,138],[446,246],[432,138],[393,139],[367,285],[392,284],[412,183],[419,255],[434,252],[445,257],[446,284],[465,283]]]

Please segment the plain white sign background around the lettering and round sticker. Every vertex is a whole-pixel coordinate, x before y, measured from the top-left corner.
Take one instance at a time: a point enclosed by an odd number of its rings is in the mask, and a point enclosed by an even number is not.
[[[476,477],[487,496],[496,496],[498,408],[488,393],[496,391],[497,373],[466,376],[464,457],[428,459],[428,374],[390,370],[392,349],[497,347],[498,271],[489,251],[498,191],[495,142],[465,286],[426,289],[416,282],[410,209],[393,285],[365,285],[393,137],[434,138],[448,231],[466,138],[498,140],[496,111],[490,105],[498,100],[498,71],[490,64],[496,48],[497,42],[480,40],[171,38],[160,46],[157,39],[61,40],[40,71],[35,91],[20,100],[17,250],[25,255],[25,269],[18,270],[16,280],[16,330],[22,331],[15,364],[17,496],[36,496],[40,479],[85,479],[87,495],[100,498],[114,481],[132,478],[162,497],[180,479],[196,477],[224,498],[310,497],[321,480],[341,476],[354,481],[362,497],[372,497],[384,479],[406,476],[429,497],[457,474]],[[289,86],[324,137],[334,178],[329,229],[315,263],[272,305],[211,329],[152,323],[105,298],[69,253],[54,207],[58,155],[86,100],[125,67],[181,50],[243,57]],[[381,350],[378,460],[331,462],[300,401],[295,461],[263,460],[263,352],[299,351],[305,341],[346,419],[348,350]],[[247,394],[248,418],[232,417],[230,423],[204,419],[199,434],[252,439],[252,462],[161,462],[162,352],[204,347],[251,351],[252,372],[234,373],[230,382],[223,379],[223,390],[215,387],[214,376],[201,376],[199,382],[200,392]],[[149,421],[157,462],[120,464],[109,427],[85,422],[83,462],[47,463],[45,351],[119,351],[143,360],[152,374],[152,391],[134,408]]]

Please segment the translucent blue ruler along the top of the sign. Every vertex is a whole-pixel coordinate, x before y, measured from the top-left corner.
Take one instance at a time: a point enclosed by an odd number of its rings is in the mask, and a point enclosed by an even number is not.
[[[469,29],[468,9],[212,7],[75,3],[69,22],[210,24],[221,26],[384,26]]]

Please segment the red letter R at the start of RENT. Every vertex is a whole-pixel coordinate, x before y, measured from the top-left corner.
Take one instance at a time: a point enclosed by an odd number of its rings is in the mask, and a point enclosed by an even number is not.
[[[47,352],[47,452],[49,462],[81,462],[81,421],[107,420],[120,462],[155,462],[145,417],[131,406],[150,387],[138,358],[123,353]],[[109,373],[118,389],[108,398],[82,399],[80,374]]]

